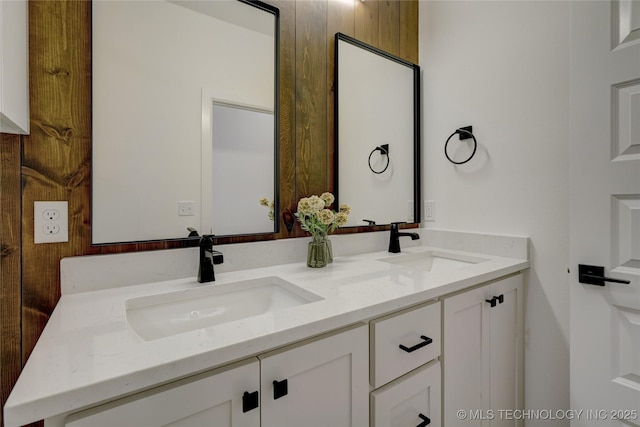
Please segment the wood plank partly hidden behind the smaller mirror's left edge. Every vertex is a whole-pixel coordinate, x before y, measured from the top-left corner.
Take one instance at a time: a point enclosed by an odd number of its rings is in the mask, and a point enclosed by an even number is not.
[[[355,2],[327,3],[327,189],[335,194],[335,56],[336,33],[355,34]]]

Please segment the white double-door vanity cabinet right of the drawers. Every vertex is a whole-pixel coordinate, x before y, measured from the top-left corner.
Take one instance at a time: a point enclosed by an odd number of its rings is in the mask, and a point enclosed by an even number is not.
[[[520,425],[504,411],[523,408],[522,294],[517,274],[444,299],[447,427]]]

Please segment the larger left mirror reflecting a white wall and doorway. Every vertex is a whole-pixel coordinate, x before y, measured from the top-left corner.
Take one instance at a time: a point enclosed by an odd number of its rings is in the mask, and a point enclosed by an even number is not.
[[[264,221],[267,209],[253,195],[235,208],[251,216],[212,212],[242,193],[238,178],[203,166],[234,157],[244,165],[242,182],[268,182],[260,197],[278,199],[278,10],[257,1],[100,0],[92,15],[92,242],[185,238],[188,227],[201,234],[273,233],[271,221],[254,227],[251,218]],[[227,151],[217,153],[213,104],[205,117],[205,97],[268,111],[271,128],[253,144],[229,152],[227,141],[220,146]],[[212,157],[205,160],[207,132]],[[252,148],[259,152],[246,151]],[[248,167],[267,152],[264,167]],[[202,199],[214,184],[221,190]]]

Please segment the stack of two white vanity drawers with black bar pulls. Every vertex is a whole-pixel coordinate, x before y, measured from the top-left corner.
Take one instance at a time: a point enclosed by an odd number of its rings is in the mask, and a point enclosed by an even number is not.
[[[441,417],[441,304],[371,321],[371,425],[437,426]]]

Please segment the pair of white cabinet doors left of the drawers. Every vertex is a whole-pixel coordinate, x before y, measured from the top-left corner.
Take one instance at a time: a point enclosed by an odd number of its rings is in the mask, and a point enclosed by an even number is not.
[[[368,358],[360,324],[73,414],[64,425],[366,427]]]

